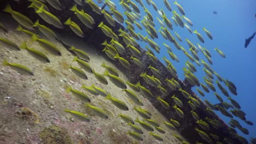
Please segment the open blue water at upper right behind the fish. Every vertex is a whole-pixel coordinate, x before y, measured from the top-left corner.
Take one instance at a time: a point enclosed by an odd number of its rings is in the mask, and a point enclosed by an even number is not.
[[[161,17],[152,7],[152,5],[148,5],[146,0],[142,0],[145,7],[150,11],[150,13],[154,17],[155,29],[159,30],[160,24],[156,20],[156,17]],[[117,5],[117,10],[124,14],[124,9],[119,5],[118,0],[113,0],[113,2]],[[135,1],[138,7],[140,7],[142,18],[146,15],[143,11],[143,8]],[[208,51],[212,54],[212,62],[213,65],[211,67],[214,71],[216,71],[223,79],[229,79],[233,83],[235,83],[237,87],[238,95],[232,95],[230,92],[232,99],[235,99],[240,105],[241,110],[246,112],[246,119],[252,121],[256,125],[256,112],[255,112],[255,89],[256,89],[256,37],[251,41],[251,44],[245,49],[245,39],[250,37],[256,31],[256,1],[255,0],[247,0],[247,1],[238,1],[238,0],[214,0],[214,1],[177,1],[185,10],[185,16],[188,17],[194,24],[193,27],[190,28],[194,31],[197,29],[197,32],[201,33],[203,38],[205,39],[205,43],[200,43],[199,39],[197,39],[196,34],[190,34],[187,28],[177,27],[174,25],[171,17],[173,16],[172,12],[168,11],[165,8],[164,2],[159,0],[153,0],[157,5],[158,9],[164,9],[167,17],[171,20],[173,24],[173,31],[168,29],[172,35],[175,37],[174,32],[177,32],[181,37],[183,42],[178,43],[182,45],[188,52],[189,47],[187,42],[185,41],[188,38],[194,45],[199,43],[202,47],[206,47]],[[179,15],[181,15],[176,7],[173,4],[174,1],[169,1],[171,4],[172,10],[176,10]],[[217,11],[218,14],[213,14],[213,11]],[[124,16],[125,17],[125,16]],[[125,17],[126,19],[126,17]],[[141,19],[142,20],[142,19]],[[137,21],[138,22],[138,21]],[[184,21],[185,22],[185,21]],[[125,24],[124,24],[125,25]],[[141,26],[143,26],[141,24]],[[213,35],[213,40],[208,39],[207,35],[202,28],[206,27],[208,31]],[[140,31],[135,26],[136,33],[141,33],[146,36],[147,32]],[[185,62],[189,61],[187,56],[184,55],[182,51],[179,51],[174,47],[170,41],[162,38],[161,34],[158,32],[158,39],[154,41],[161,47],[160,53],[156,53],[155,55],[164,63],[162,57],[166,56],[169,61],[171,61],[178,72],[178,77],[181,80],[184,80],[184,72],[182,68],[185,67]],[[173,53],[178,57],[179,63],[172,61],[170,56],[167,53],[165,46],[162,43],[166,43],[171,46]],[[147,43],[139,42],[142,48],[144,48]],[[196,45],[197,46],[197,45]],[[150,47],[148,45],[148,47]],[[221,51],[223,51],[226,55],[226,58],[222,58],[218,55],[214,48],[218,47]],[[153,50],[154,51],[154,50]],[[190,52],[189,52],[190,53]],[[203,59],[207,62],[207,59],[199,52],[200,59]],[[198,77],[200,82],[204,83],[202,77],[206,76],[205,72],[202,70],[203,67],[198,67],[196,63],[193,63],[196,66],[197,72],[195,75]],[[217,80],[217,77],[214,77],[214,81]],[[224,83],[222,83],[223,86]],[[221,91],[219,91],[217,85],[214,85],[217,89],[217,93],[220,94],[224,101],[230,103],[230,101],[225,97]],[[227,90],[228,88],[225,87]],[[203,91],[203,89],[200,87]],[[197,93],[196,87],[193,88],[193,91]],[[210,90],[211,91],[211,90]],[[199,93],[197,95],[200,95]],[[201,97],[201,99],[209,100],[212,104],[217,104],[219,101],[211,91],[210,93],[205,93],[206,97]],[[223,116],[220,112],[216,111],[216,113],[224,119],[226,123],[229,123],[230,118]],[[239,118],[234,117],[236,120],[240,122],[242,127],[247,128],[249,130],[249,135],[245,135],[241,133],[240,130],[237,130],[237,133],[243,137],[245,137],[248,141],[251,137],[256,137],[256,127],[255,125],[247,125],[245,122],[240,121]]]

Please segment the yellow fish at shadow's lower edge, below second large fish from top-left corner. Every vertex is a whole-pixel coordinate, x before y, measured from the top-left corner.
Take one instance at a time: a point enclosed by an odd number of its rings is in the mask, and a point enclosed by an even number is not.
[[[45,37],[49,39],[58,39],[57,35],[48,27],[44,25],[40,25],[39,20],[37,20],[33,27],[38,27],[39,31],[45,35]],[[32,35],[31,35],[32,36]]]

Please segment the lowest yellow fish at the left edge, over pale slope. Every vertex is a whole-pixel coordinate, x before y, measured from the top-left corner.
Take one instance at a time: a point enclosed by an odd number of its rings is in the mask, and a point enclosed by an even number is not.
[[[9,66],[11,69],[16,70],[22,75],[34,75],[30,68],[25,67],[24,65],[18,63],[9,63],[6,59],[3,60],[4,66]]]

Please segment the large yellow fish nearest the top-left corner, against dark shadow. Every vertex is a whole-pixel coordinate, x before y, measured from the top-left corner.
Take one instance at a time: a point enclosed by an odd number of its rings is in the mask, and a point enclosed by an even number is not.
[[[32,27],[33,22],[30,19],[28,19],[28,17],[26,17],[25,15],[22,15],[21,13],[12,10],[9,4],[4,8],[3,11],[6,13],[10,13],[11,16],[13,16],[13,18],[20,23],[20,25],[28,29],[32,29],[32,30],[34,29]]]

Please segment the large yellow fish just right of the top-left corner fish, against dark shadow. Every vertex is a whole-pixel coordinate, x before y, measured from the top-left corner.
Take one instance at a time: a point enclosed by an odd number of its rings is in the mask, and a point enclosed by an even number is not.
[[[57,28],[63,28],[63,25],[61,21],[53,14],[49,13],[48,11],[44,10],[44,5],[42,5],[36,13],[43,13],[44,16],[42,19],[44,19],[45,22],[57,27]]]

